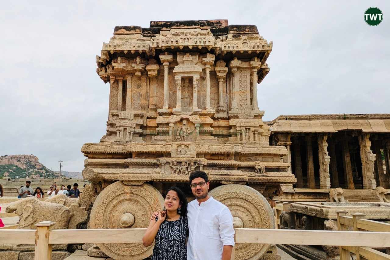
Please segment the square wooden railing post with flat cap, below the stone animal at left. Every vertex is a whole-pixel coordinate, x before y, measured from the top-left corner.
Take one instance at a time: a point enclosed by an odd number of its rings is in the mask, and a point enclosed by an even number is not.
[[[42,221],[35,226],[35,256],[34,260],[51,260],[51,244],[49,244],[49,228],[53,226],[53,221]]]

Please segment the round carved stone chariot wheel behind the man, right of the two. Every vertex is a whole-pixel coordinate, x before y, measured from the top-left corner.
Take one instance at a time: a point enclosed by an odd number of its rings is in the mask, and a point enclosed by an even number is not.
[[[275,228],[273,211],[268,201],[255,189],[228,184],[209,192],[216,200],[225,204],[233,215],[235,228]],[[236,259],[257,260],[264,255],[269,244],[236,244]]]

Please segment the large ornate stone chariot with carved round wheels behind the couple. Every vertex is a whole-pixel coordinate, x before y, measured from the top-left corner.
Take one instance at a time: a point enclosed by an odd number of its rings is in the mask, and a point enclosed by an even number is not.
[[[210,195],[229,207],[236,228],[274,228],[266,198],[296,179],[282,159],[287,149],[269,145],[257,103],[271,50],[256,26],[227,20],[115,27],[96,57],[98,75],[110,83],[106,134],[82,147],[83,177],[101,191],[90,228],[146,228],[170,186],[193,199],[195,170],[207,173]],[[142,244],[97,246],[117,260],[152,254]],[[267,251],[237,244],[235,252],[254,260]]]

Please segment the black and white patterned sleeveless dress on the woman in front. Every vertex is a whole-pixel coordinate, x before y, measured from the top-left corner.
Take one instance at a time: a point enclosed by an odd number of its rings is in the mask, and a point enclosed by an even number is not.
[[[156,218],[157,221],[158,218]],[[160,225],[153,248],[152,260],[186,260],[188,236],[187,216],[175,221],[165,220]]]

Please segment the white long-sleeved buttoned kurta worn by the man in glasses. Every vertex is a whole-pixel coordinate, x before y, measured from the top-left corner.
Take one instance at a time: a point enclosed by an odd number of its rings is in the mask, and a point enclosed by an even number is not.
[[[232,214],[213,197],[188,203],[187,216],[187,260],[221,260],[223,246],[234,246]]]

